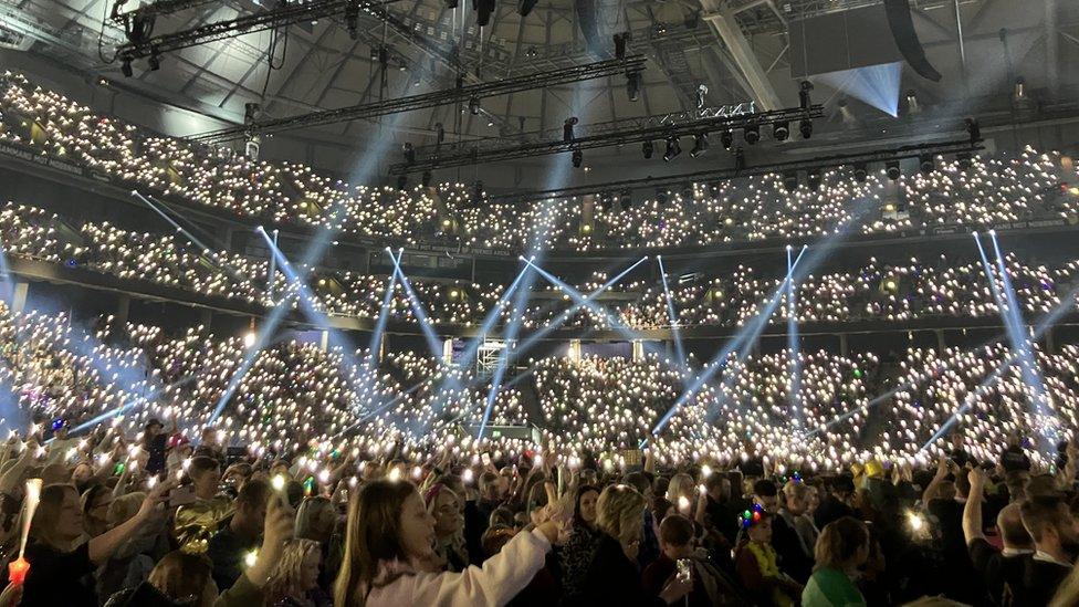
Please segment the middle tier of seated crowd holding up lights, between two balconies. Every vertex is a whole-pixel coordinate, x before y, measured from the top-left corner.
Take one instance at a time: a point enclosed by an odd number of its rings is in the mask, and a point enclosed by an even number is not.
[[[150,281],[179,287],[191,295],[214,295],[266,308],[285,301],[297,306],[296,283],[279,268],[271,297],[270,264],[219,250],[207,253],[177,233],[132,232],[107,222],[73,222],[40,208],[8,203],[0,207],[0,243],[11,260],[45,261],[65,268],[87,269],[121,279]],[[890,264],[869,257],[849,271],[809,274],[795,293],[798,323],[851,321],[907,322],[924,318],[995,317],[1001,312],[976,249],[966,255],[911,257]],[[845,253],[850,258],[852,253]],[[1008,274],[1025,313],[1043,314],[1065,304],[1079,286],[1079,258],[1054,263],[1025,263],[1014,253],[1006,257]],[[998,272],[997,272],[998,274]],[[610,276],[596,272],[576,285],[588,293]],[[670,285],[679,326],[717,325],[734,327],[761,312],[767,295],[784,276],[737,264],[730,272],[701,274],[687,283]],[[561,326],[630,329],[671,326],[662,284],[628,280],[609,287],[629,293],[629,301],[598,302],[580,306],[559,286],[537,283],[523,315],[524,327],[535,329],[561,320]],[[315,308],[336,316],[376,318],[383,308],[386,276],[353,272],[315,271],[308,280]],[[501,301],[505,284],[468,281],[440,282],[411,279],[411,284],[436,325],[476,326],[493,308],[509,320],[511,306]],[[784,295],[785,297],[785,295]],[[784,299],[785,301],[785,299]],[[413,306],[401,287],[394,284],[388,314],[392,320],[418,323]],[[773,323],[787,318],[781,305]]]

